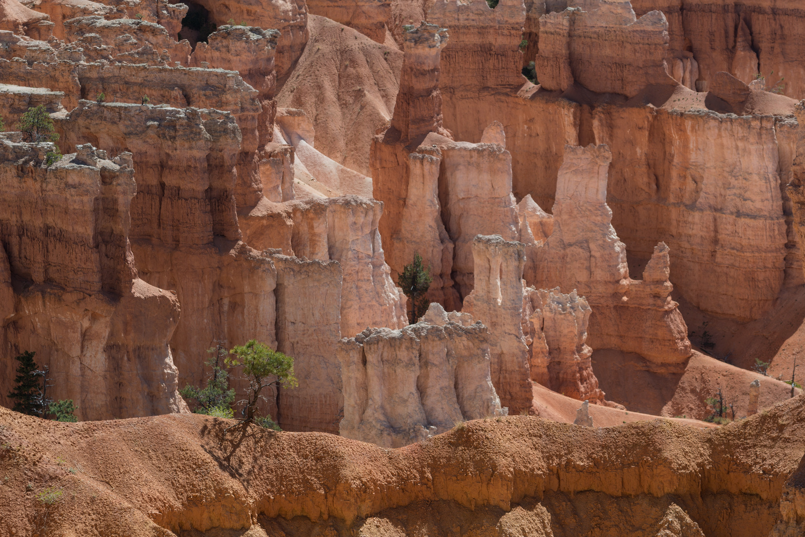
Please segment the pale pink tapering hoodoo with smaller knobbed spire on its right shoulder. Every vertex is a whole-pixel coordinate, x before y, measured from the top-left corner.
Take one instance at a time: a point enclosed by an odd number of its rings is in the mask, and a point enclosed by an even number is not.
[[[671,300],[668,248],[654,249],[642,280],[630,279],[625,245],[606,204],[609,147],[565,147],[559,169],[553,232],[536,250],[535,287],[576,289],[592,308],[588,342],[658,363],[691,355],[687,326]],[[532,282],[529,282],[532,283]]]

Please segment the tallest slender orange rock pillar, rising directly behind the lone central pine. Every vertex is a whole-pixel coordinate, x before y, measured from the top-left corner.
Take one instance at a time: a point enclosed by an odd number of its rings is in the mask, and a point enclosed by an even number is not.
[[[442,127],[439,90],[444,28],[423,23],[403,33],[405,58],[390,127],[372,140],[370,166],[374,198],[383,202],[379,231],[392,277],[422,255],[431,266],[428,297],[450,310],[460,309],[451,277],[453,245],[441,220],[438,147],[416,151],[429,133]],[[445,138],[449,139],[449,138]]]

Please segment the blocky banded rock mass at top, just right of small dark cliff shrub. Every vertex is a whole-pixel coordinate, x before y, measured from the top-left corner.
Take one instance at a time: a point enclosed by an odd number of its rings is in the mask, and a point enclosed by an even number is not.
[[[664,61],[667,29],[661,11],[637,19],[629,0],[568,2],[567,10],[539,18],[537,78],[544,89],[564,91],[576,81],[626,97],[648,85],[675,85]],[[688,72],[692,88],[690,79]]]

